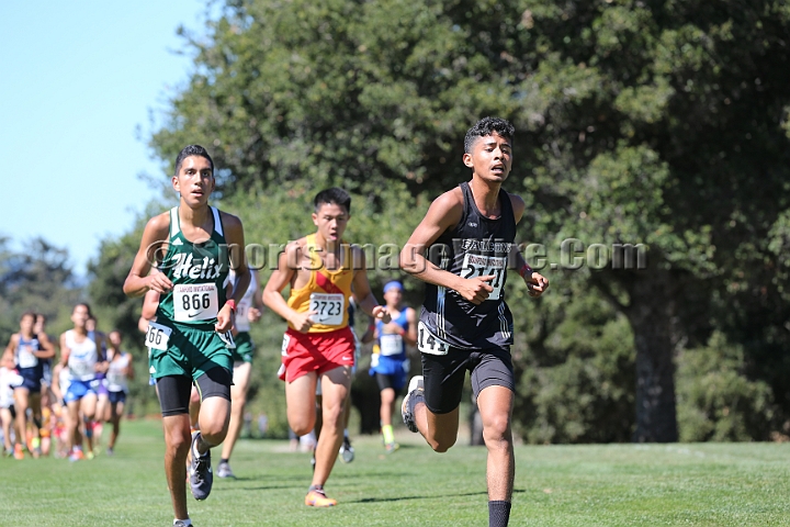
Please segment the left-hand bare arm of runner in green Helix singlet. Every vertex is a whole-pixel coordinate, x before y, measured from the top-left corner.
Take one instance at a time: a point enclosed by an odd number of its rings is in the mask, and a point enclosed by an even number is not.
[[[151,217],[143,231],[143,239],[124,282],[127,296],[142,296],[148,290],[163,293],[172,288],[172,282],[163,272],[150,273],[151,265],[161,260],[167,250],[170,233],[170,215],[162,213]]]

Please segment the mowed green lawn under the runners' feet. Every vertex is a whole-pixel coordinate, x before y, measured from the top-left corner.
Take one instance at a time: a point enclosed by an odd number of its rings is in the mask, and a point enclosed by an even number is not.
[[[356,437],[357,459],[338,462],[327,485],[337,507],[304,506],[309,456],[286,441],[241,440],[237,480],[216,479],[190,513],[196,527],[485,526],[486,450],[432,452],[398,436],[385,456]],[[2,526],[168,526],[170,500],[157,421],[127,422],[116,455],[0,459]],[[215,453],[215,466],[218,459]],[[510,525],[790,525],[790,444],[517,447]]]

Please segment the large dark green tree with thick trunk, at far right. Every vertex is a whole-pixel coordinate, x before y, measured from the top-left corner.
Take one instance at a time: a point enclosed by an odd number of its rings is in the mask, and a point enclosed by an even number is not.
[[[756,240],[789,205],[790,12],[781,2],[529,8],[539,51],[529,82],[546,104],[533,184],[550,198],[537,194],[537,209],[561,204],[561,236],[650,246],[645,270],[590,278],[634,330],[634,438],[674,440],[673,351],[706,334],[716,289],[761,265]],[[561,91],[543,96],[551,86]]]

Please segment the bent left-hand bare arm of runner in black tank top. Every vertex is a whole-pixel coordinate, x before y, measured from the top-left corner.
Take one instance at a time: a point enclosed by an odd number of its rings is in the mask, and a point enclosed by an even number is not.
[[[470,302],[479,304],[494,291],[488,282],[496,277],[461,278],[439,269],[424,256],[426,248],[461,221],[462,214],[463,195],[460,189],[444,192],[437,198],[400,251],[400,268],[424,282],[452,289]]]

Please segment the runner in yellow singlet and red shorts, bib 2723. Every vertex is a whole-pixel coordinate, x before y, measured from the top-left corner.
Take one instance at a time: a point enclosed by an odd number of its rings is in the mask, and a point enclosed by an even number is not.
[[[376,302],[368,283],[364,254],[342,242],[350,216],[351,198],[341,189],[327,189],[315,198],[315,234],[289,244],[278,269],[263,290],[263,303],[285,318],[283,338],[285,401],[289,425],[303,436],[316,422],[315,393],[323,393],[323,426],[316,447],[313,483],[305,504],[329,507],[329,478],[343,438],[343,407],[349,396],[354,338],[348,325],[351,295],[371,316],[390,322],[387,310]],[[291,288],[287,302],[281,291]]]

